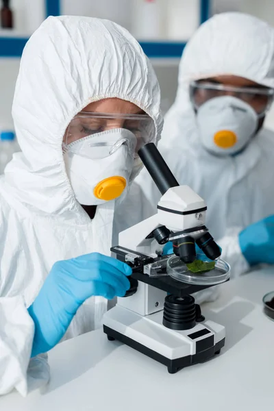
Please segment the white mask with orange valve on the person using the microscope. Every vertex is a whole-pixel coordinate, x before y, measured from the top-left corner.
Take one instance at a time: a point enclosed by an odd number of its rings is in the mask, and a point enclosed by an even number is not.
[[[97,206],[125,195],[136,142],[129,130],[110,129],[66,146],[66,172],[80,204]]]

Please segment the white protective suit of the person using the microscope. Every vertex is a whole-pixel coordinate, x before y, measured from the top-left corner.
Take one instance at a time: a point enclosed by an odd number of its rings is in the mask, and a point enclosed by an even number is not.
[[[22,153],[0,179],[0,394],[17,388],[26,395],[29,382],[36,379],[37,386],[49,378],[45,356],[29,364],[34,324],[26,307],[53,264],[91,252],[110,255],[115,202],[98,206],[91,221],[75,199],[62,153],[73,116],[110,97],[149,114],[158,140],[160,90],[138,42],[119,25],[96,18],[50,17],[42,23],[23,51],[14,95]],[[86,301],[68,336],[98,327],[105,310],[102,297]]]

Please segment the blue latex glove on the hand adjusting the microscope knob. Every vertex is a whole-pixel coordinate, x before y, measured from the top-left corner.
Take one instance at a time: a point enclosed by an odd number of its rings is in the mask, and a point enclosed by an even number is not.
[[[89,297],[123,297],[131,274],[127,264],[99,253],[56,262],[28,310],[35,324],[32,357],[59,343]]]

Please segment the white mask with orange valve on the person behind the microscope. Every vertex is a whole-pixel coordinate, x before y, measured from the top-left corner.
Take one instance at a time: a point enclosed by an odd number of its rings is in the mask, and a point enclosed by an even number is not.
[[[197,110],[197,125],[203,147],[216,155],[232,155],[249,144],[258,115],[236,97],[215,97]]]

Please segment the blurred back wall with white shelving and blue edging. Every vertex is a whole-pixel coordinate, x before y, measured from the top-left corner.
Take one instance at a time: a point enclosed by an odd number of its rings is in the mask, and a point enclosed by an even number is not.
[[[200,23],[212,14],[237,10],[274,25],[274,0],[10,0],[10,8],[14,27],[0,30],[0,131],[12,127],[12,97],[23,46],[47,15],[109,18],[129,29],[151,58],[164,112],[175,99],[184,45]],[[274,129],[274,109],[267,123]]]

